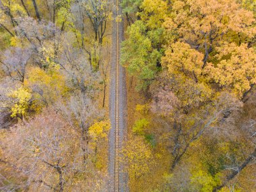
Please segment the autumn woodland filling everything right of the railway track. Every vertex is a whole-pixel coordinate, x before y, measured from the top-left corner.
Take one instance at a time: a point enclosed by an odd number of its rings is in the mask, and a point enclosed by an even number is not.
[[[154,178],[149,191],[254,191],[255,1],[144,0],[131,8],[122,59],[140,99],[130,103],[150,110],[129,115],[130,139],[154,143],[160,158],[139,182]]]

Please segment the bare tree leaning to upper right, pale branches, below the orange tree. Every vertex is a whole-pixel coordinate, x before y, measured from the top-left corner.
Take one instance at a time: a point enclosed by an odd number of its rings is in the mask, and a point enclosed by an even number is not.
[[[173,156],[170,166],[171,171],[181,161],[195,140],[199,139],[207,129],[218,125],[218,123],[223,123],[223,121],[228,121],[226,119],[232,118],[231,114],[235,114],[240,107],[241,102],[236,100],[236,98],[232,98],[230,94],[223,93],[212,104],[203,108],[203,110],[199,110],[197,116],[192,115],[192,117],[188,116],[174,120],[173,135],[170,137]],[[190,125],[190,127],[186,127],[185,122],[191,120],[195,123]]]

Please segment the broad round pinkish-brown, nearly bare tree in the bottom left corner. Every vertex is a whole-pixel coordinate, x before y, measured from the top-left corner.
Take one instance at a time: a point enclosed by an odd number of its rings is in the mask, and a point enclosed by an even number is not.
[[[32,191],[64,191],[75,174],[85,172],[75,147],[79,136],[55,111],[18,124],[9,134],[12,139],[5,140],[6,160],[28,178],[26,186]]]

